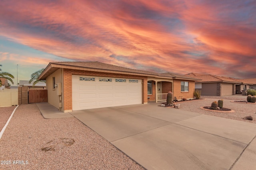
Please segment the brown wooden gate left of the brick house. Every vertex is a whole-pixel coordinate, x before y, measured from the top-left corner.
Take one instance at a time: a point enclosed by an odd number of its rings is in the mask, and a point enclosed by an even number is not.
[[[48,102],[47,90],[28,90],[28,103]]]

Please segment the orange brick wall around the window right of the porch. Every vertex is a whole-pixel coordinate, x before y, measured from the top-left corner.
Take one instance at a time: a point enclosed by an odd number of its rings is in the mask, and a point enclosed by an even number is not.
[[[188,92],[181,92],[181,82],[187,81],[188,82]],[[176,97],[178,100],[181,98],[194,98],[194,88],[195,88],[195,82],[194,81],[188,81],[188,80],[173,80],[173,96]],[[182,96],[182,97],[180,97]]]

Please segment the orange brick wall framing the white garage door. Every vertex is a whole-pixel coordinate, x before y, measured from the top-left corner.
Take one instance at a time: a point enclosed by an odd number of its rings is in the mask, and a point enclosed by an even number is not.
[[[145,76],[134,76],[129,74],[114,74],[114,73],[108,73],[108,72],[92,72],[92,71],[64,68],[63,70],[64,111],[72,110],[72,75],[141,79],[142,80],[142,103],[148,102],[148,78]]]

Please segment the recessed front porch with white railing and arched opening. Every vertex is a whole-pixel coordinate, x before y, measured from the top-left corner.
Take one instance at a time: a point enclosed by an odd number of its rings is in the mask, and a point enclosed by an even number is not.
[[[172,82],[148,80],[148,102],[166,102],[167,94],[172,89]]]

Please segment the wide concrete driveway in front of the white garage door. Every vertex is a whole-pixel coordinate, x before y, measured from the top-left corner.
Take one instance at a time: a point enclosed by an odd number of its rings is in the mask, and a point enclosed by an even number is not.
[[[149,170],[245,168],[245,160],[239,159],[256,135],[256,124],[158,105],[70,114]],[[256,148],[256,142],[252,143],[250,147]]]

